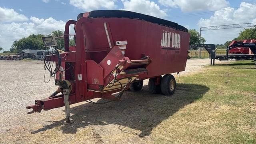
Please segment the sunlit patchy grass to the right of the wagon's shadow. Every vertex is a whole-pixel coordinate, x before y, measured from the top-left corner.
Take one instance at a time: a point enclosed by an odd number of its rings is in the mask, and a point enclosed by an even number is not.
[[[209,90],[162,122],[154,130],[156,143],[255,144],[256,69],[249,69],[254,67],[251,60],[237,61],[182,77],[179,83]]]

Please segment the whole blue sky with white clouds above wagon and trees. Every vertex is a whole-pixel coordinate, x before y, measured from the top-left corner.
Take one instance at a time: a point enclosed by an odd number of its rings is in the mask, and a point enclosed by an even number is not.
[[[200,26],[256,22],[255,3],[256,0],[0,0],[0,46],[8,50],[14,40],[29,34],[63,30],[67,20],[90,10],[130,10],[199,30]],[[202,36],[206,43],[223,44],[241,30],[205,31]]]

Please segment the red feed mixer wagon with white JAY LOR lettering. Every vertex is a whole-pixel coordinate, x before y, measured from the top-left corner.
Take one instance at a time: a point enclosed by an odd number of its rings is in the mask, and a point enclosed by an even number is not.
[[[75,47],[69,46],[71,24]],[[70,122],[69,104],[94,98],[119,100],[124,90],[138,91],[148,78],[151,93],[172,95],[176,81],[170,73],[185,70],[189,39],[183,26],[153,16],[122,10],[81,13],[77,21],[66,23],[65,51],[44,58],[58,90],[26,108],[40,113],[65,106]],[[53,36],[43,41],[45,46],[56,46]]]

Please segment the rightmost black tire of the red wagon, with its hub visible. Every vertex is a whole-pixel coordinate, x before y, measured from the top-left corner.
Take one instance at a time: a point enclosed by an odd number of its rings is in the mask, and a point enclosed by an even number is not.
[[[172,85],[170,84],[172,81]],[[166,96],[174,94],[176,90],[176,80],[173,75],[166,74],[161,80],[161,92]]]

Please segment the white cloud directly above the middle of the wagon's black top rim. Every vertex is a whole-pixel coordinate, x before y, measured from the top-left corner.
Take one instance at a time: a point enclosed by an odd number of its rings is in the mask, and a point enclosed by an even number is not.
[[[158,4],[150,0],[122,0],[122,3],[124,4],[124,9],[122,10],[130,10],[161,18],[167,16],[164,10],[160,10]]]

